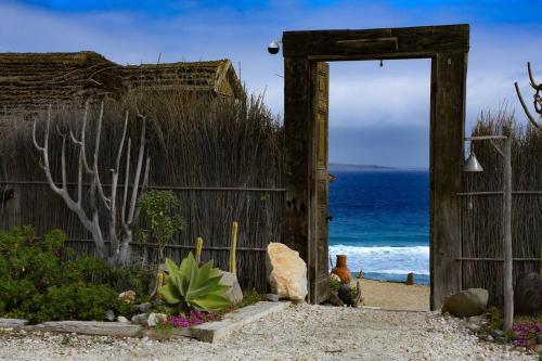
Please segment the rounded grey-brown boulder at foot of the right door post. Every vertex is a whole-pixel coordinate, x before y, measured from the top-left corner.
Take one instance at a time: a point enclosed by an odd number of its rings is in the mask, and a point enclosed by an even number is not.
[[[468,288],[450,295],[444,299],[442,312],[457,318],[469,318],[482,314],[488,307],[489,293],[483,288]]]

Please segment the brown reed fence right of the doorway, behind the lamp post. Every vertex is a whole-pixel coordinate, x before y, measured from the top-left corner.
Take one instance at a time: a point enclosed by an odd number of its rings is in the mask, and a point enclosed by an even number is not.
[[[520,127],[506,107],[482,113],[473,136],[499,134],[511,128],[513,167],[514,280],[542,268],[542,133]],[[503,302],[503,159],[489,142],[477,142],[474,152],[482,172],[464,173],[461,211],[462,286],[489,291],[490,304]]]

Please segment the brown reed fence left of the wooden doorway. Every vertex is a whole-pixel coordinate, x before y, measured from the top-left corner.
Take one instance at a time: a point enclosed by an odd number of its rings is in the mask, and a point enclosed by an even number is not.
[[[228,269],[231,224],[237,221],[237,273],[244,288],[267,291],[266,247],[282,242],[283,136],[278,119],[259,98],[230,99],[189,96],[181,92],[132,94],[131,99],[106,102],[100,150],[102,180],[107,182],[116,157],[117,138],[124,111],[130,109],[132,153],[138,149],[134,106],[150,120],[149,152],[152,157],[150,188],[170,190],[178,199],[177,211],[186,227],[175,235],[165,256],[180,261],[204,238],[203,259]],[[136,104],[137,102],[137,104]],[[54,129],[78,131],[82,111],[54,111]],[[92,108],[90,119],[95,119]],[[44,114],[39,116],[38,138]],[[13,190],[13,198],[0,202],[0,228],[33,224],[38,235],[59,228],[68,234],[68,244],[78,254],[93,254],[91,236],[61,197],[50,191],[31,144],[28,121],[12,116],[0,128],[0,193]],[[93,129],[95,124],[90,125]],[[87,133],[92,139],[92,131]],[[53,177],[61,179],[61,140],[50,144]],[[89,156],[93,150],[89,149]],[[66,153],[68,189],[77,189],[78,153]],[[132,167],[133,169],[133,167]],[[124,184],[124,181],[119,181]],[[104,184],[107,189],[108,184]],[[83,184],[83,191],[89,184]],[[119,185],[119,192],[121,186]],[[86,194],[87,192],[83,192]],[[83,199],[88,206],[88,199]],[[105,215],[103,231],[107,238]],[[142,223],[142,227],[144,224]],[[138,237],[131,245],[131,261],[154,265],[157,249],[152,238]]]

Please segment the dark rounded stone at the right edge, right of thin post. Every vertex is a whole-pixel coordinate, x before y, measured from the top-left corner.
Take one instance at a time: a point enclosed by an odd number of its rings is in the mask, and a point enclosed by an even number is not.
[[[514,313],[537,314],[542,312],[542,275],[530,272],[521,274],[514,288]]]

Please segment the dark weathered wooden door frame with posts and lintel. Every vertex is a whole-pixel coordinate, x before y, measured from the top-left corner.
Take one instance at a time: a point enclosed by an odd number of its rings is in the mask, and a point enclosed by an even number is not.
[[[307,261],[309,288],[318,265],[318,207],[312,88],[318,62],[430,59],[430,307],[460,291],[459,202],[465,124],[469,26],[283,33],[286,218],[284,243]],[[321,261],[320,261],[321,262]],[[309,292],[309,301],[322,296]]]

